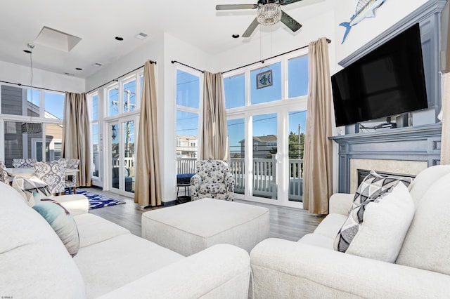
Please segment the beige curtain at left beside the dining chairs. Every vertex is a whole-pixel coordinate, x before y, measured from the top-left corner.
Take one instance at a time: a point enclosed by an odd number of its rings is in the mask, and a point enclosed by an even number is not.
[[[61,157],[79,159],[77,185],[91,186],[91,124],[86,93],[65,93]]]

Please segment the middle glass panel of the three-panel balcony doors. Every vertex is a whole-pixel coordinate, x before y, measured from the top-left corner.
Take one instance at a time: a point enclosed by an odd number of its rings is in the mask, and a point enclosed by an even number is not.
[[[252,128],[252,195],[277,199],[277,114],[254,116]]]

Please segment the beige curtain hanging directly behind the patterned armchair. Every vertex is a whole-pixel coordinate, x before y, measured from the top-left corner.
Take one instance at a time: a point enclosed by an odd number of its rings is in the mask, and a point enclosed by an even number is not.
[[[206,71],[204,77],[200,159],[229,162],[224,78],[221,73],[212,74]]]

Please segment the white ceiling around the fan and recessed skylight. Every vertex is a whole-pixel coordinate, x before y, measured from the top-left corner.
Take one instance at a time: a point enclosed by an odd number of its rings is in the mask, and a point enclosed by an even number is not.
[[[302,0],[282,6],[298,22],[323,10],[333,9],[333,0]],[[30,66],[27,44],[34,44],[33,67],[86,78],[161,32],[181,39],[207,53],[219,53],[245,43],[233,39],[243,34],[256,10],[216,11],[216,4],[256,4],[257,0],[14,0],[0,8],[0,60]],[[37,44],[43,27],[77,36],[82,40],[65,52]],[[278,30],[282,24],[277,24]],[[253,35],[259,30],[256,29]],[[293,33],[301,34],[302,29]],[[146,39],[134,36],[143,32]],[[115,40],[122,36],[124,41]],[[251,39],[251,37],[250,37]],[[80,67],[82,70],[77,70]]]

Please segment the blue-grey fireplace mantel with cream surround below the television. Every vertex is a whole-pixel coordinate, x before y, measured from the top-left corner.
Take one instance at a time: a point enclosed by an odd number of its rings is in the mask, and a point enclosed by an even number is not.
[[[442,124],[330,137],[338,143],[338,192],[353,193],[358,169],[417,175],[439,164]]]

